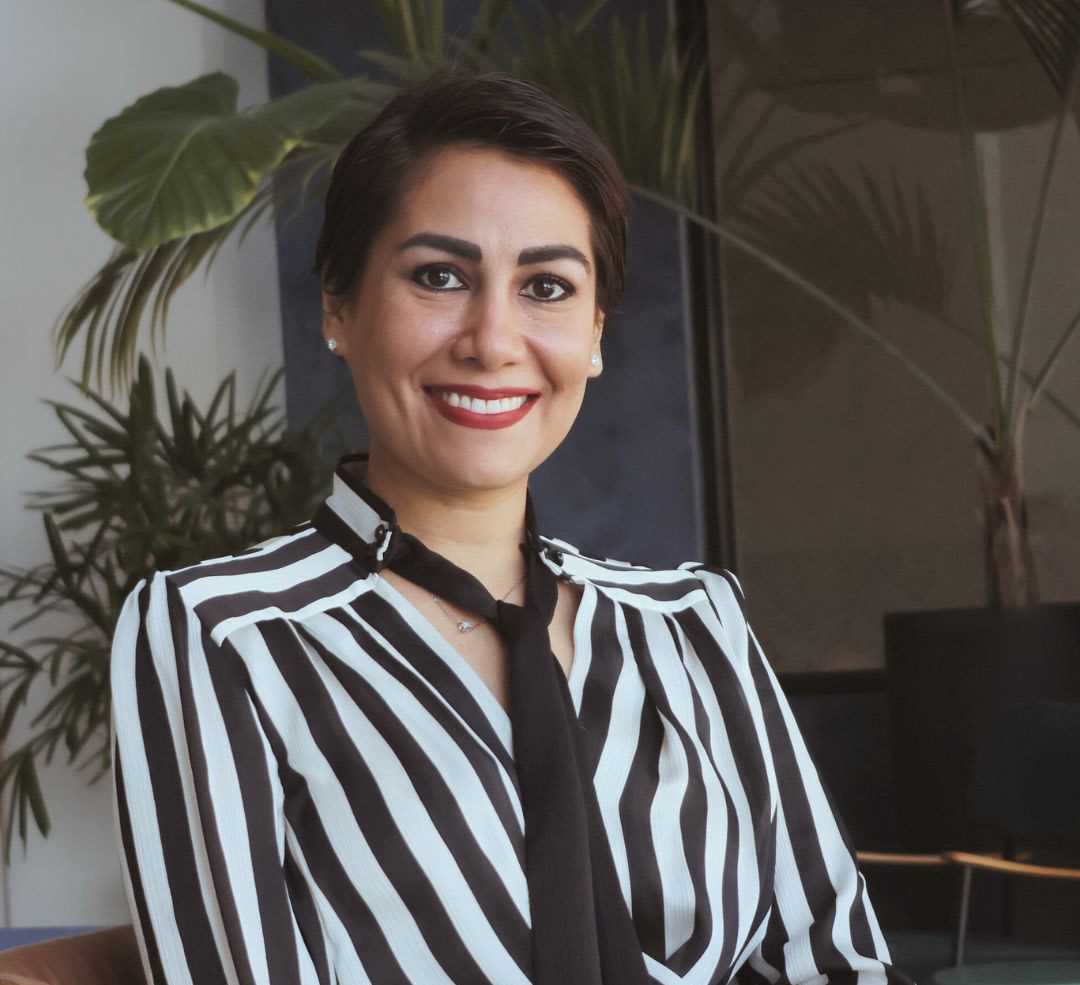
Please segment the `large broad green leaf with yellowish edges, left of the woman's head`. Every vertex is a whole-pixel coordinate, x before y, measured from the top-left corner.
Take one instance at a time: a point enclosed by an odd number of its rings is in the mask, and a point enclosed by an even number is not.
[[[248,112],[238,110],[237,82],[222,72],[152,92],[91,138],[86,205],[113,239],[139,251],[221,226],[363,85],[311,85]]]

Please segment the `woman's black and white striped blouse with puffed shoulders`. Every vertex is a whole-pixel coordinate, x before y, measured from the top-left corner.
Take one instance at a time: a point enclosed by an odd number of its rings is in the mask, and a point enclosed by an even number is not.
[[[348,468],[327,505],[381,549]],[[124,607],[117,810],[148,976],[525,985],[510,718],[321,529],[158,574]],[[899,977],[734,578],[536,539],[582,588],[569,690],[652,981]]]

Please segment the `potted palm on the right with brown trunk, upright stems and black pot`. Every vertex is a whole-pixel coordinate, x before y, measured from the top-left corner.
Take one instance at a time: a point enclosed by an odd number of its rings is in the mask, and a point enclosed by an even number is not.
[[[1063,698],[1080,700],[1080,603],[1040,602],[1022,465],[1026,430],[1045,395],[1051,374],[1080,326],[1080,312],[1067,313],[1049,353],[1025,375],[1025,342],[1030,335],[1043,224],[1063,135],[1075,119],[1080,4],[1072,0],[967,0],[943,6],[987,367],[988,406],[972,436],[982,492],[988,605],[892,612],[885,621],[901,793],[909,805],[912,846],[928,849],[963,847],[977,837],[966,818],[968,774],[981,738],[1008,706]],[[985,187],[958,58],[957,30],[964,16],[1010,19],[1038,57],[1058,97],[1011,326],[999,324]],[[1002,339],[1009,340],[1008,346]]]

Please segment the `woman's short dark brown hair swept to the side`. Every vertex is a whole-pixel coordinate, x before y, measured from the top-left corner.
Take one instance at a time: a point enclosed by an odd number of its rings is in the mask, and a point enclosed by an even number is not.
[[[629,208],[626,180],[611,152],[540,86],[458,69],[397,93],[341,152],[315,249],[323,288],[339,296],[352,291],[417,165],[455,145],[535,161],[570,183],[591,220],[596,305],[609,312],[625,280]]]

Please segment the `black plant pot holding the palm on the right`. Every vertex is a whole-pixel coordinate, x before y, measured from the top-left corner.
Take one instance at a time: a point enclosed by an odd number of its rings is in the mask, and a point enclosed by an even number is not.
[[[964,807],[986,729],[1015,704],[1080,701],[1080,603],[889,612],[885,643],[905,847],[974,847]]]

